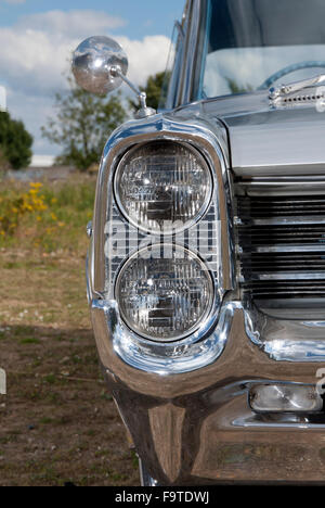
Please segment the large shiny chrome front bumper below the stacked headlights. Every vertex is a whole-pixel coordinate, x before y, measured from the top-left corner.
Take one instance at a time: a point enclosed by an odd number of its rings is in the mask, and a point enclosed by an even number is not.
[[[325,483],[325,420],[251,411],[260,381],[317,382],[318,361],[278,361],[247,333],[234,308],[223,353],[183,373],[139,370],[114,341],[114,309],[94,301],[92,323],[109,389],[150,474],[165,485],[224,482]]]

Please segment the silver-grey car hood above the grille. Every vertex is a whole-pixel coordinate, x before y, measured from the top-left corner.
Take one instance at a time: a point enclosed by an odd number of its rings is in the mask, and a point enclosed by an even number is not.
[[[237,175],[320,174],[325,170],[325,113],[315,104],[278,107],[265,92],[231,96],[188,106],[221,120]]]

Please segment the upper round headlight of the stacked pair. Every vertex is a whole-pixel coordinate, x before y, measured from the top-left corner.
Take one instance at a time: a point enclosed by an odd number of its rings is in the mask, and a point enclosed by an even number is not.
[[[191,227],[207,211],[212,178],[192,147],[155,141],[129,151],[115,176],[117,202],[127,219],[154,234]]]

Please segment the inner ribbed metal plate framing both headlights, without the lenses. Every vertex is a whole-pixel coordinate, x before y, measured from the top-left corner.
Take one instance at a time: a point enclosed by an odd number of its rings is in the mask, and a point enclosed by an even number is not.
[[[220,205],[219,202],[219,193],[220,193],[220,175],[212,172],[212,161],[209,161],[207,152],[200,150],[199,143],[194,148],[188,142],[180,140],[179,137],[152,137],[151,139],[146,139],[145,142],[131,143],[128,147],[128,150],[120,152],[120,156],[115,158],[115,164],[112,167],[110,179],[109,179],[109,188],[115,191],[116,185],[116,174],[118,168],[121,167],[121,162],[125,160],[127,155],[132,154],[134,147],[139,148],[139,145],[147,144],[148,142],[178,142],[182,145],[190,147],[191,150],[194,150],[200,154],[205,164],[207,165],[207,169],[209,170],[209,175],[211,176],[211,188],[209,190],[209,200],[206,203],[207,208],[205,209],[202,217],[198,217],[195,223],[191,224],[184,230],[181,230],[174,234],[153,234],[146,230],[141,230],[138,228],[136,224],[132,224],[132,221],[128,220],[125,217],[125,214],[120,209],[120,205],[116,195],[116,192],[113,193],[113,199],[109,196],[107,202],[108,204],[108,223],[106,223],[105,232],[108,233],[106,238],[106,247],[105,254],[108,264],[106,267],[108,271],[106,271],[106,290],[105,290],[105,299],[113,299],[117,303],[117,295],[116,295],[116,283],[119,278],[119,274],[121,267],[132,256],[136,255],[139,251],[143,246],[147,245],[155,245],[158,243],[171,243],[172,245],[179,244],[183,249],[192,252],[196,255],[202,262],[206,265],[212,281],[213,281],[213,299],[212,305],[209,308],[209,312],[203,319],[200,319],[198,326],[193,327],[190,332],[186,332],[178,338],[173,338],[172,340],[168,341],[165,340],[159,341],[153,336],[148,336],[146,334],[140,333],[139,331],[132,329],[127,322],[127,319],[121,316],[119,309],[119,318],[121,320],[121,325],[132,333],[132,336],[138,336],[139,343],[143,345],[155,343],[172,345],[185,345],[197,342],[199,339],[205,336],[209,330],[212,329],[213,323],[218,321],[221,303],[223,300],[224,294],[224,287],[223,287],[223,276],[221,272],[221,257],[222,257],[222,226],[220,220]],[[193,143],[194,144],[194,143]],[[196,144],[196,143],[195,143]],[[218,160],[218,163],[221,164],[221,160]],[[110,218],[109,218],[110,217]],[[107,227],[109,226],[109,228]],[[125,240],[127,244],[127,249],[122,249],[122,253],[120,254],[120,250],[117,247],[116,251],[113,253],[112,249],[112,238],[115,236],[113,233],[113,229],[118,229],[122,226],[126,230]],[[204,230],[203,239],[200,238],[199,245],[195,245],[195,240],[202,233],[202,228]],[[117,238],[120,238],[120,232],[117,232]],[[164,240],[162,240],[164,238]],[[181,240],[181,241],[179,241]],[[203,240],[203,241],[202,241]],[[117,306],[119,307],[118,303]],[[133,339],[134,340],[134,339]]]

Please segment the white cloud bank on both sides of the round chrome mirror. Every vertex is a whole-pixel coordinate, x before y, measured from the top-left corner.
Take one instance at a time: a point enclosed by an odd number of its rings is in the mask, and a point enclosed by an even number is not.
[[[22,118],[34,135],[36,153],[49,153],[48,142],[40,138],[40,126],[53,114],[54,92],[66,86],[63,73],[68,69],[73,50],[83,38],[112,34],[123,24],[118,17],[88,10],[50,11],[0,27],[0,47],[5,48],[0,52],[0,85],[9,89],[9,111]],[[164,71],[170,45],[167,37],[115,38],[128,53],[128,76],[136,85]]]

